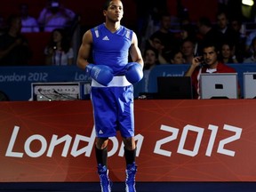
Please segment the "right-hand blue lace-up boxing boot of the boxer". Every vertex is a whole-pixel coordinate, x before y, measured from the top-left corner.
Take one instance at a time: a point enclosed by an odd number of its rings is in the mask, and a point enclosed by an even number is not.
[[[135,188],[135,174],[137,172],[137,165],[127,164],[126,167],[126,180],[125,180],[125,192],[136,192]]]

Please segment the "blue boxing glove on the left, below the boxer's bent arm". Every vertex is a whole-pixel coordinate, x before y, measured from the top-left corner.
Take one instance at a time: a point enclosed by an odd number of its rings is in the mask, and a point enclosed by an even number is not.
[[[112,68],[105,65],[94,65],[91,63],[86,66],[85,73],[104,86],[108,86],[109,82],[112,81],[114,77]]]

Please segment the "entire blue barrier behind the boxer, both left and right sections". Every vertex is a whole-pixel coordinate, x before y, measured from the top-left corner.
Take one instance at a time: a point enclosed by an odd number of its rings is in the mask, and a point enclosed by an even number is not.
[[[243,94],[243,73],[256,72],[256,63],[228,64],[236,68]],[[140,92],[157,92],[157,76],[183,76],[189,65],[159,65],[152,69],[148,85],[145,78],[134,84],[134,97]],[[84,71],[76,66],[1,67],[0,91],[10,100],[29,100],[31,83],[84,82],[88,81]],[[148,87],[146,87],[146,85]]]

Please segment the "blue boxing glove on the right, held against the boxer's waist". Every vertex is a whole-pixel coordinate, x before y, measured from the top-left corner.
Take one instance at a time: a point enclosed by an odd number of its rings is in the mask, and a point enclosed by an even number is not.
[[[131,83],[135,84],[143,78],[142,66],[138,62],[129,62],[125,67],[125,77]]]

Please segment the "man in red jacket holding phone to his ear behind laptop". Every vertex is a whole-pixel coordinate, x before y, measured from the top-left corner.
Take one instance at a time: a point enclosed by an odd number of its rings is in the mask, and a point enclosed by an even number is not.
[[[218,60],[220,54],[218,45],[208,42],[203,45],[202,52],[203,56],[195,57],[184,75],[191,76],[195,99],[200,99],[199,79],[202,73],[236,73],[234,68]]]

